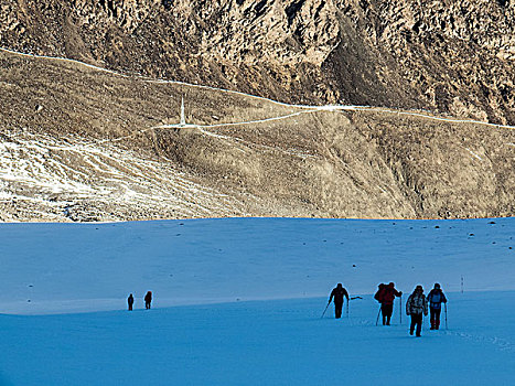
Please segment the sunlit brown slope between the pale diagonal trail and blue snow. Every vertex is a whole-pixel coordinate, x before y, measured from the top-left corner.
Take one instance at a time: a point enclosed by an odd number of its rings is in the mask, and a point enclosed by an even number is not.
[[[0,52],[0,218],[515,214],[515,131]],[[181,98],[186,122],[179,122]]]

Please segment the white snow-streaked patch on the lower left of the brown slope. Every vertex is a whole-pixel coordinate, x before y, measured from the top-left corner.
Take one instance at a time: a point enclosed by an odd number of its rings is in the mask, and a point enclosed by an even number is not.
[[[182,216],[239,213],[236,199],[203,187],[172,162],[143,159],[115,147],[93,148],[79,138],[7,132],[0,142],[0,200],[53,205],[90,199],[114,204],[155,203]],[[69,143],[77,143],[75,147]],[[51,151],[51,153],[50,153]]]

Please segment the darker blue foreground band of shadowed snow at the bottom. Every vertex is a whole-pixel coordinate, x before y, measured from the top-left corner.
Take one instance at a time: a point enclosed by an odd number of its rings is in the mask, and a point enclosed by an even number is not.
[[[371,297],[0,317],[13,385],[512,385],[513,292],[449,293],[450,330],[375,326]],[[329,310],[332,314],[332,309]]]

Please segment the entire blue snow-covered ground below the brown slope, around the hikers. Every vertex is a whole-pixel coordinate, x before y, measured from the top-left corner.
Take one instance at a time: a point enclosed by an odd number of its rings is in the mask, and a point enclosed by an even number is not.
[[[0,224],[0,385],[512,385],[513,236],[514,218]],[[364,299],[321,319],[339,281]],[[409,336],[398,301],[375,326],[382,281],[439,281],[449,329]]]

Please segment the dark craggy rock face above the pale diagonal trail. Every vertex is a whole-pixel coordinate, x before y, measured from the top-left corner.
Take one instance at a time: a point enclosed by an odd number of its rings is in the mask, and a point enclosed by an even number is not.
[[[4,0],[0,44],[282,101],[515,124],[507,0]]]

